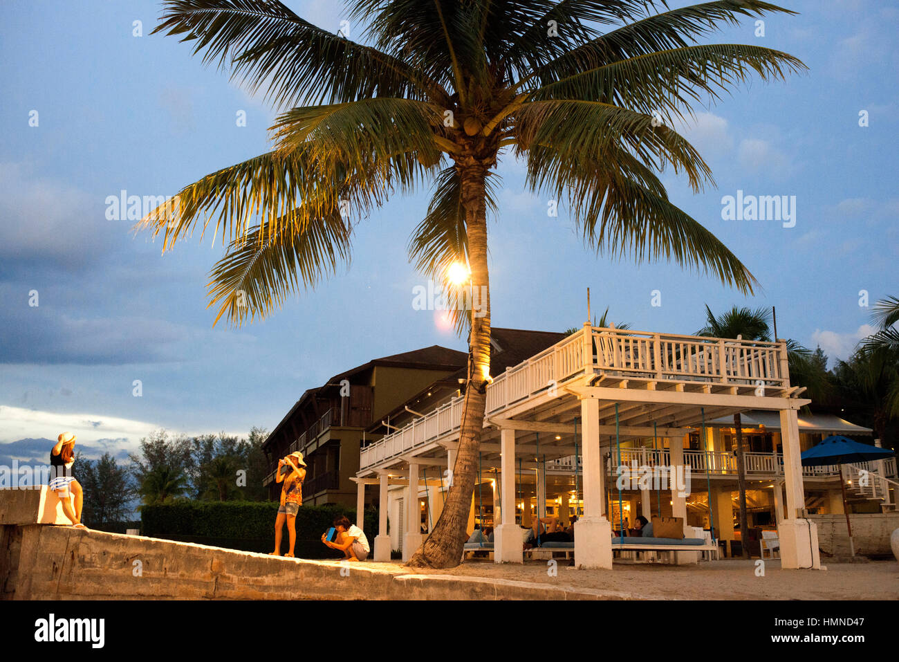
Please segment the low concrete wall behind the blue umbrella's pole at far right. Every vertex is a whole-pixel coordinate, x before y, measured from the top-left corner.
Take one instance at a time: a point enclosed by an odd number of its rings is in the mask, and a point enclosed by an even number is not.
[[[849,534],[844,514],[810,514],[818,525],[818,547],[828,556],[849,556]],[[856,554],[892,556],[890,534],[899,529],[899,513],[850,514]]]

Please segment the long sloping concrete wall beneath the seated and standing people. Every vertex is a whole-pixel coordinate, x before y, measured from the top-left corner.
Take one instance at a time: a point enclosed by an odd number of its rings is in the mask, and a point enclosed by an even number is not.
[[[414,575],[396,564],[276,559],[46,524],[0,525],[0,599],[571,600],[614,592]]]

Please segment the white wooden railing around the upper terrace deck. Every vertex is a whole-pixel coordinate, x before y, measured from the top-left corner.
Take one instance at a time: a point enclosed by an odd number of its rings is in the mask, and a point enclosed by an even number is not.
[[[783,343],[655,334],[630,329],[591,327],[547,347],[527,361],[507,368],[486,388],[486,414],[523,402],[553,385],[585,372],[659,380],[717,381],[753,386],[787,386],[787,350]],[[592,346],[592,355],[584,353]],[[462,398],[453,398],[427,416],[387,434],[360,455],[367,469],[458,430]],[[726,453],[708,458],[713,471],[735,471]],[[691,458],[696,470],[707,459]],[[692,465],[691,465],[692,466]]]

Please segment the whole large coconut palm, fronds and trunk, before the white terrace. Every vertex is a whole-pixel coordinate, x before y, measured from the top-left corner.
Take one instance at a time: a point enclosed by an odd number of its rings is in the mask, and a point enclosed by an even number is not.
[[[774,12],[793,13],[761,0],[674,10],[661,0],[352,0],[348,17],[366,24],[357,42],[277,0],[167,0],[155,32],[191,41],[282,112],[270,151],[187,185],[141,226],[164,234],[165,251],[215,219],[228,244],[209,306],[239,325],[348,260],[353,223],[390,193],[433,183],[410,257],[441,282],[467,262],[483,314],[456,316],[470,327],[453,485],[411,563],[455,566],[490,380],[486,215],[498,159],[521,157],[532,192],[566,198],[597,251],[666,258],[752,291],[752,274],[668,200],[656,173],[671,165],[695,192],[714,183],[673,122],[753,72],[783,79],[805,67],[761,46],[699,43]]]

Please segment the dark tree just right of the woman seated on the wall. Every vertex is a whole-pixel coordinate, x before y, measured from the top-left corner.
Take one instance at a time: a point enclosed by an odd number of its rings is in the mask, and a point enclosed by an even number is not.
[[[78,480],[85,491],[82,519],[91,528],[121,522],[129,514],[135,488],[128,470],[120,467],[109,452],[99,460],[85,460],[77,454]]]

